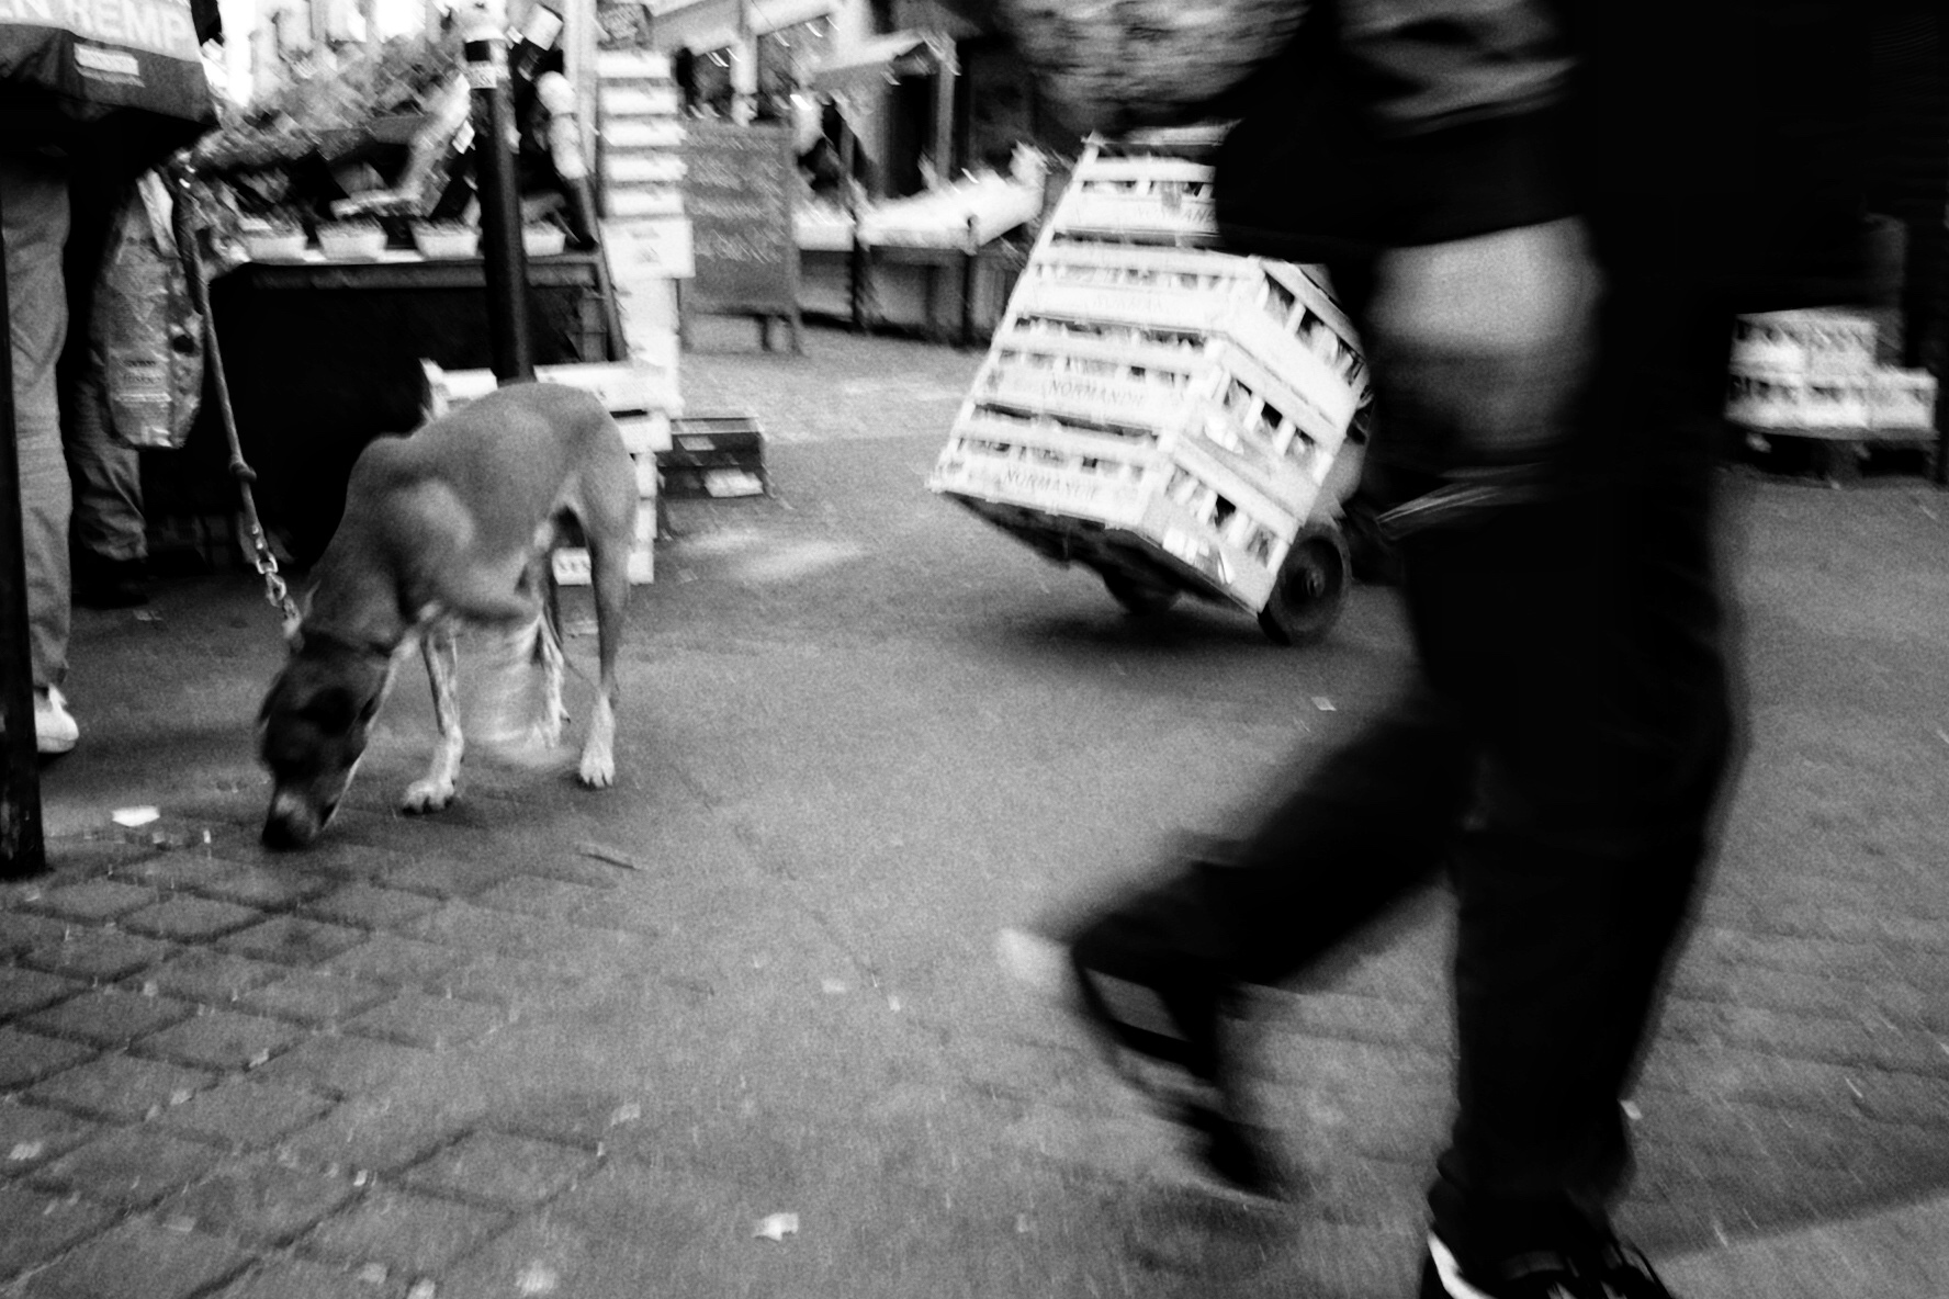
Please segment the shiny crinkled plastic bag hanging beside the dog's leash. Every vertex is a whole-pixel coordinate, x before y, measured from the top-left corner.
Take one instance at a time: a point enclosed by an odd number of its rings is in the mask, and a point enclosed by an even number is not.
[[[144,173],[115,218],[96,280],[92,343],[109,428],[140,450],[179,450],[203,401],[203,314],[170,216],[168,187]]]

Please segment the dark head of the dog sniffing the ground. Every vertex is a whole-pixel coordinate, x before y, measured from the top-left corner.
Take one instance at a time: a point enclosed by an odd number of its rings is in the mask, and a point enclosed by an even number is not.
[[[384,652],[331,637],[292,641],[257,713],[257,754],[273,783],[267,847],[304,847],[339,810],[390,682]]]

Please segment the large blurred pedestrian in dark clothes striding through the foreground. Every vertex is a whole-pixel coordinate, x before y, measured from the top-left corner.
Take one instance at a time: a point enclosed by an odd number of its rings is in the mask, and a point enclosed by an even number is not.
[[[1711,536],[1731,323],[1850,292],[1861,18],[1314,0],[1232,105],[1228,243],[1327,263],[1372,362],[1419,672],[1234,841],[1064,941],[1089,1024],[1164,1065],[1216,1172],[1273,1192],[1242,989],[1446,872],[1456,1120],[1423,1299],[1666,1295],[1608,1209],[1737,752]]]

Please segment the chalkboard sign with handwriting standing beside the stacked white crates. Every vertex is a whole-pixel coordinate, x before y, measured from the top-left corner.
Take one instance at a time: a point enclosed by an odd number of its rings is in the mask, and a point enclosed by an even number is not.
[[[696,277],[684,286],[686,310],[783,315],[797,339],[795,167],[785,127],[684,123],[684,216],[696,259]]]

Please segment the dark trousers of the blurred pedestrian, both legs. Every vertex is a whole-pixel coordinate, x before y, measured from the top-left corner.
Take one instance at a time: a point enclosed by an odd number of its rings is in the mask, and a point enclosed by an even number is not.
[[[1575,1244],[1627,1167],[1620,1093],[1733,748],[1709,536],[1729,333],[1684,284],[1618,282],[1563,440],[1518,465],[1534,495],[1401,541],[1409,693],[1222,861],[1095,921],[1277,984],[1446,869],[1458,1118],[1431,1207],[1464,1258]],[[1462,436],[1471,403],[1510,409],[1493,372],[1370,356],[1388,491],[1495,460]]]

